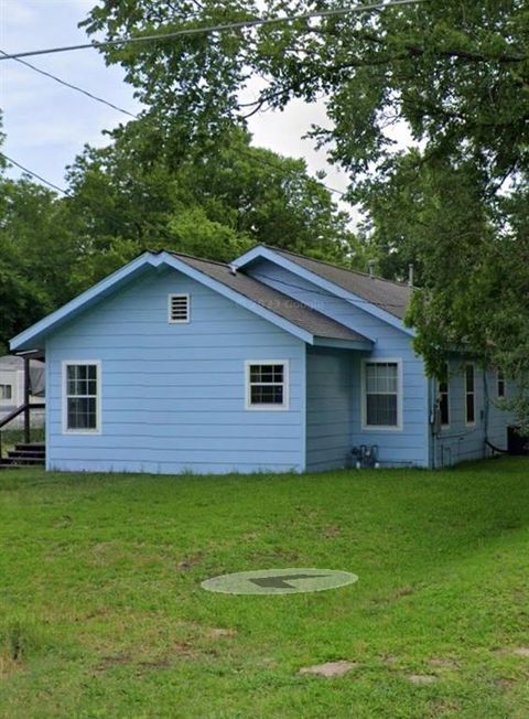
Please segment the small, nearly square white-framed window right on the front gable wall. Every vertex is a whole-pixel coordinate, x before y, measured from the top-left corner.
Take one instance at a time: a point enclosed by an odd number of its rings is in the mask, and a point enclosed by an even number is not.
[[[246,408],[289,408],[289,363],[246,363]]]

